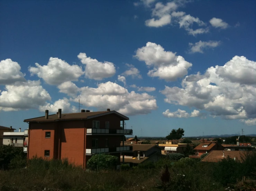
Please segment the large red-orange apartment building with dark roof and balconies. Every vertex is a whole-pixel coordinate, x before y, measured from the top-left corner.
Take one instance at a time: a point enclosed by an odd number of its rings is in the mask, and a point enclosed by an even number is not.
[[[132,134],[131,129],[125,129],[125,120],[129,118],[110,109],[81,110],[81,113],[62,113],[59,109],[53,115],[45,110],[43,117],[24,120],[29,123],[27,158],[68,158],[83,168],[96,153],[112,154],[120,159],[121,152],[132,151],[131,146],[124,145],[124,136]]]

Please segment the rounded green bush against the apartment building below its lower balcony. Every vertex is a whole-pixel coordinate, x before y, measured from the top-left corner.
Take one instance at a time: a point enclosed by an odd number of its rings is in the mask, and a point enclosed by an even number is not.
[[[115,169],[118,157],[108,154],[96,154],[87,162],[87,168],[91,170]]]

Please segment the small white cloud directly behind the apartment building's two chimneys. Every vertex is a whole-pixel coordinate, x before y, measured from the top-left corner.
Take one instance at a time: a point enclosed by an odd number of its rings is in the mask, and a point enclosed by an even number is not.
[[[49,110],[49,112],[57,112],[58,109],[62,109],[62,113],[74,113],[78,112],[78,109],[74,106],[70,107],[69,100],[67,98],[59,99],[53,104],[45,103],[45,105],[39,106],[39,111],[44,112]]]

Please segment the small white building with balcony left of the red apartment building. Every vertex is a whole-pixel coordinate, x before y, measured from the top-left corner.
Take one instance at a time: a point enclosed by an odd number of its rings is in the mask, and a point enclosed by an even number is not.
[[[23,147],[23,151],[27,152],[28,143],[28,129],[24,132],[4,132],[3,133],[3,144],[12,145],[14,147]]]

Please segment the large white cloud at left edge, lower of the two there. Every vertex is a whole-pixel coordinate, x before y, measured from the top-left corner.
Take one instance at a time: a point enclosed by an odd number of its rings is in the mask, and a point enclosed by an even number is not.
[[[6,85],[0,94],[0,108],[3,111],[35,109],[51,100],[49,93],[40,85],[40,81],[16,82]]]

